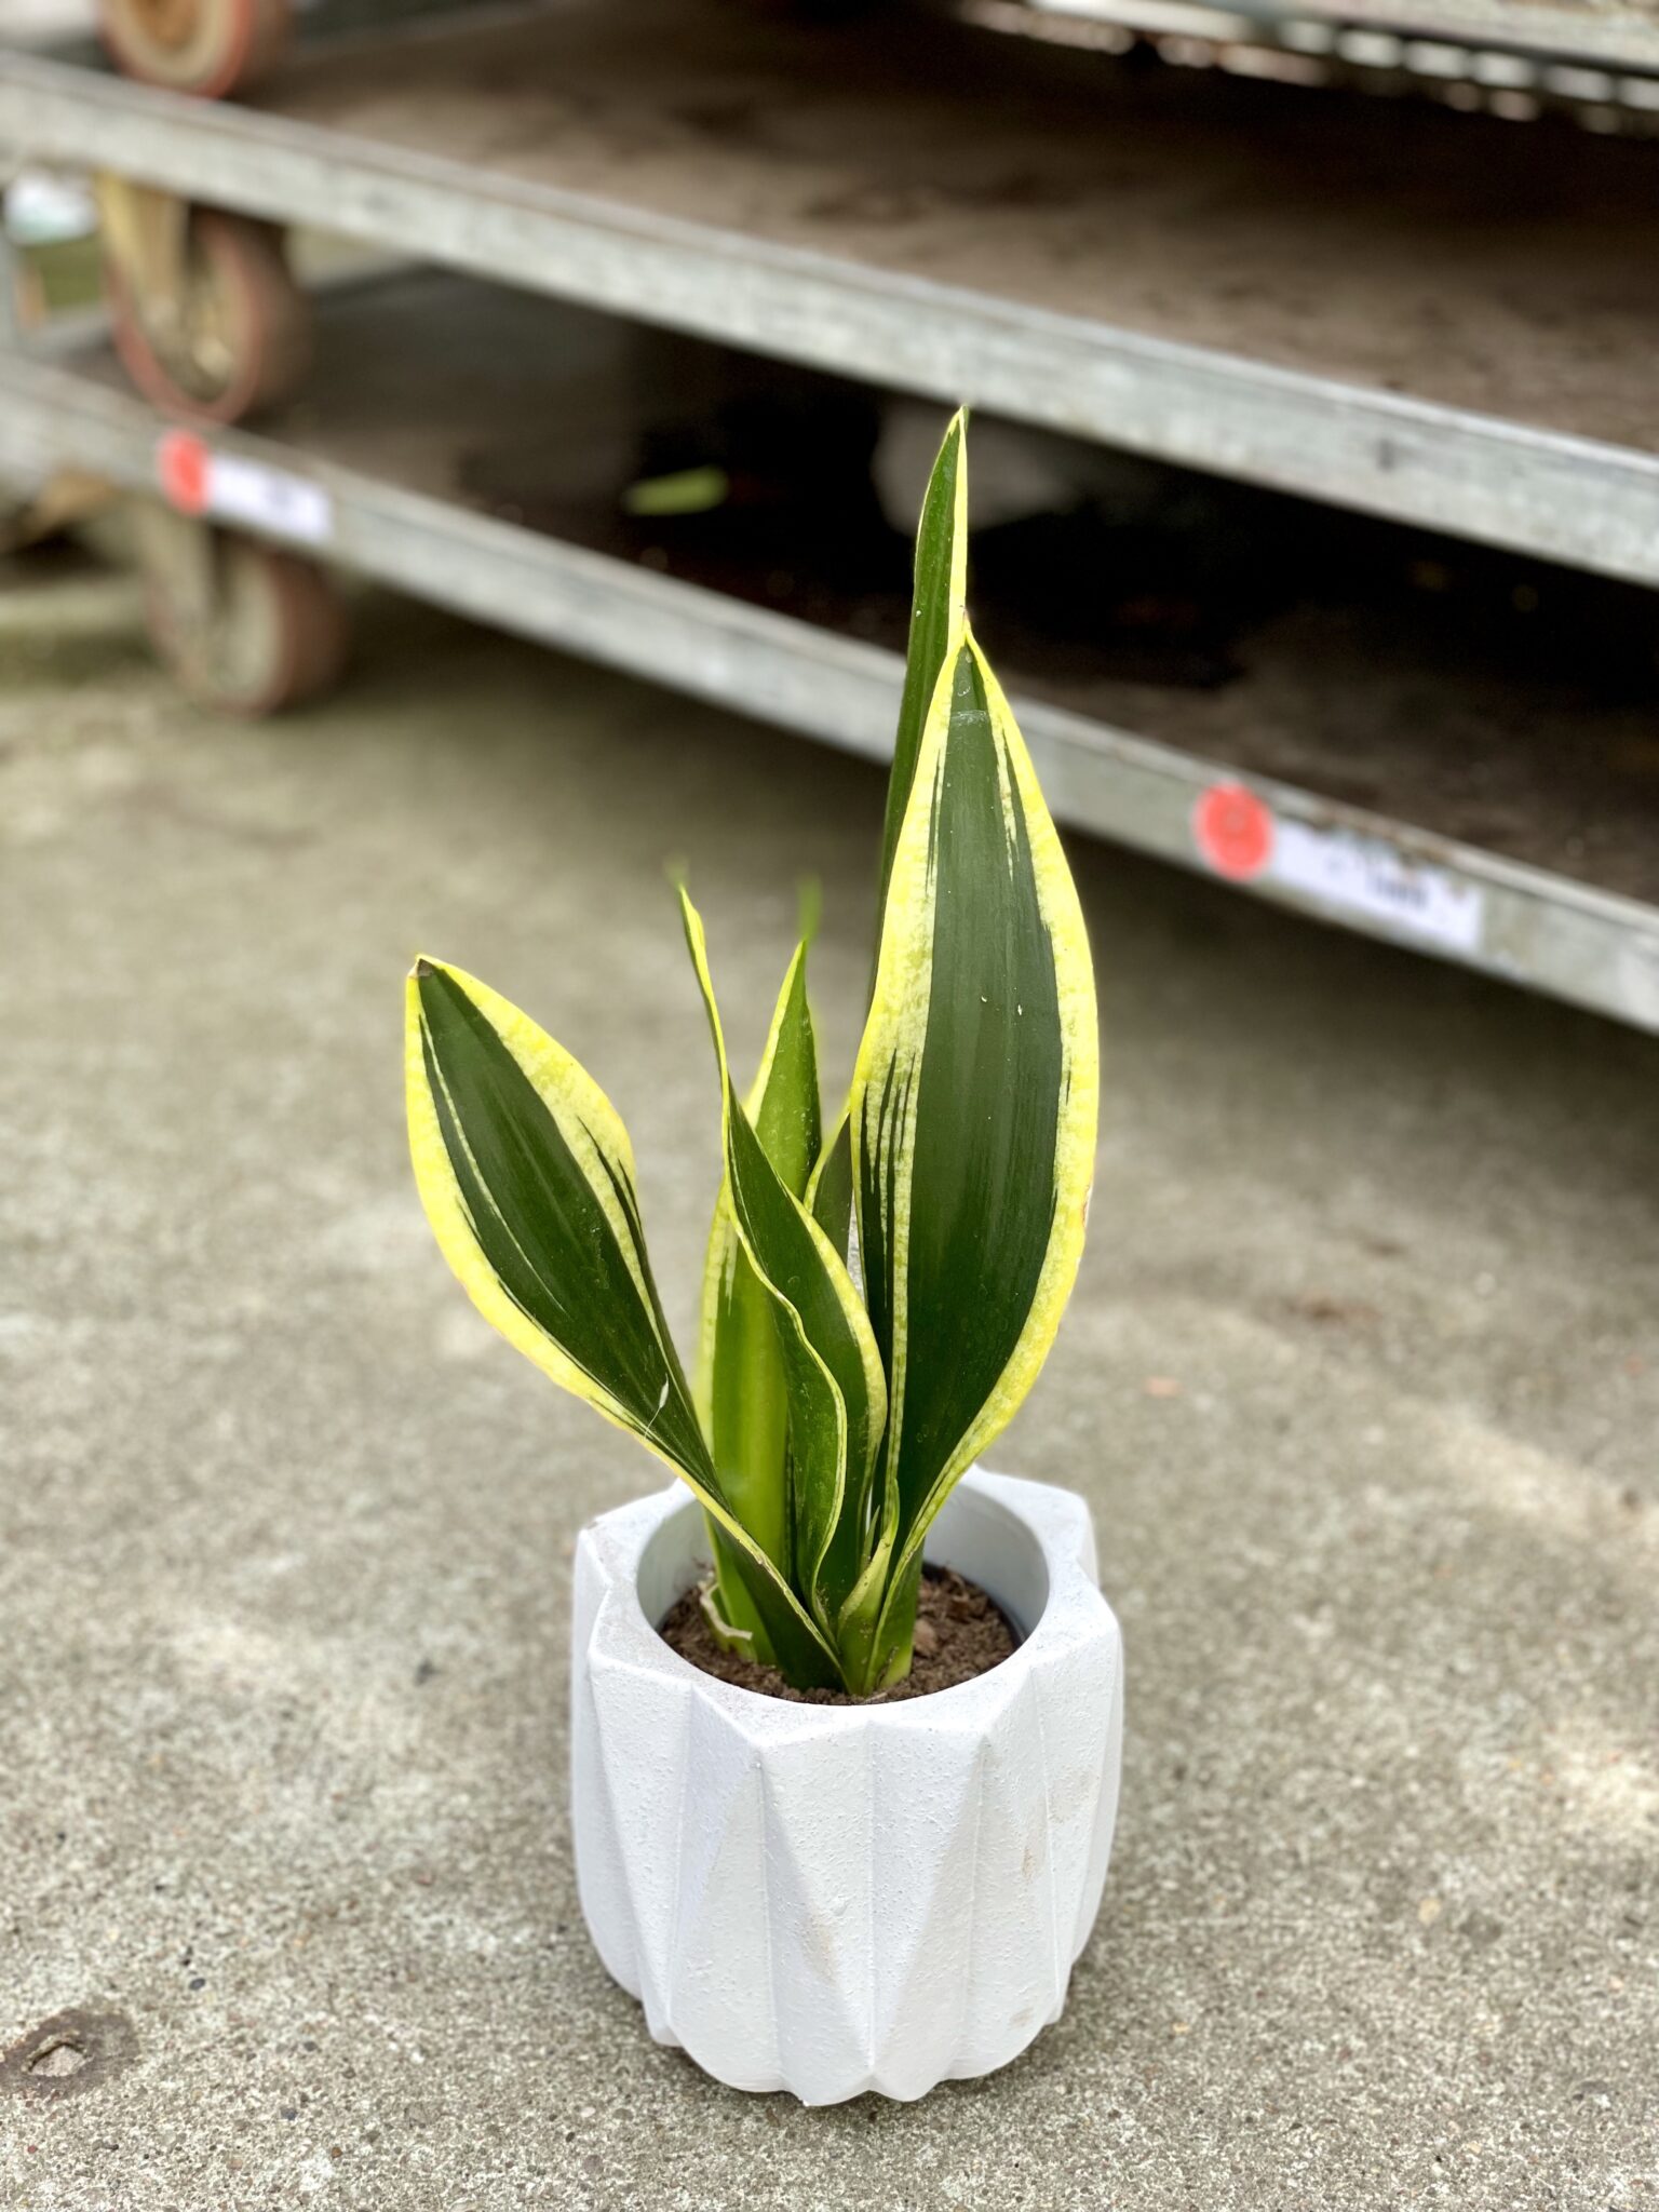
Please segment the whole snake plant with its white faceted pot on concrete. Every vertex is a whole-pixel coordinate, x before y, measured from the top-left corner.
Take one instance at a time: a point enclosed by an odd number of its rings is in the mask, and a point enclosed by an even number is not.
[[[978,1467],[1077,1272],[1097,1033],[1077,894],[967,619],[964,436],[920,518],[869,1015],[827,1124],[805,940],[739,1091],[679,891],[723,1128],[692,1376],[606,1095],[462,969],[409,978],[438,1245],[675,1473],[577,1544],[593,1942],[659,2042],[805,2104],[920,2097],[1057,2017],[1117,1807],[1088,1511]]]

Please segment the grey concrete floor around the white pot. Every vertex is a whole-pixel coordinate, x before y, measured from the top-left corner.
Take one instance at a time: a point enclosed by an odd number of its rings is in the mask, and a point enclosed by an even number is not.
[[[803,2112],[655,2048],[571,1880],[566,1582],[633,1447],[449,1281],[416,947],[611,1088],[688,1327],[690,865],[748,1060],[794,885],[845,1068],[880,781],[411,611],[272,728],[131,593],[0,595],[7,2212],[1659,2205],[1659,1046],[1077,852],[1106,1099],[1000,1464],[1130,1652],[1057,2028]],[[126,2039],[124,2039],[126,2037]]]

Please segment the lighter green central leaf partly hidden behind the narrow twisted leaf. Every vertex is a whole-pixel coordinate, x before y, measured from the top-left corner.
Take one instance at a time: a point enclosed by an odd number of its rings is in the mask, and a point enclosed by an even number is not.
[[[807,940],[796,947],[783,978],[772,1029],[743,1110],[761,1150],[796,1197],[818,1159],[823,1119],[818,1104],[818,1048],[807,1004]],[[790,1475],[785,1467],[790,1396],[783,1354],[772,1327],[772,1294],[743,1252],[732,1214],[730,1177],[714,1201],[714,1223],[703,1263],[703,1316],[697,1360],[697,1413],[732,1511],[765,1555],[790,1573]],[[719,1584],[719,1613],[770,1650],[726,1540],[710,1528]]]

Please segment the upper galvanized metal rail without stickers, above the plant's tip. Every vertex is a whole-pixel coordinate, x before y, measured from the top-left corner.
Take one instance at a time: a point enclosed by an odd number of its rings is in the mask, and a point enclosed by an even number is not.
[[[1659,584],[1659,458],[0,58],[0,148],[1013,420]]]

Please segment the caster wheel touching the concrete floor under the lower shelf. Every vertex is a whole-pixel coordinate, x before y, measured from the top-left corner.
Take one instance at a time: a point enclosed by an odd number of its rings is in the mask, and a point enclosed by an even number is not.
[[[201,706],[252,721],[338,684],[349,619],[314,562],[173,518],[142,560],[150,639]]]

